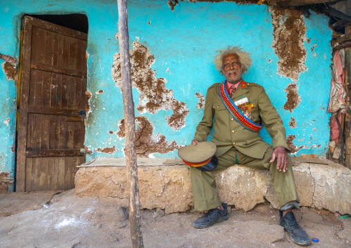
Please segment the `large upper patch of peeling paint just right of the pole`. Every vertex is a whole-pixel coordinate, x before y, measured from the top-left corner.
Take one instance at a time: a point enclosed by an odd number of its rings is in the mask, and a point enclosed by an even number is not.
[[[173,90],[169,90],[165,86],[166,79],[155,77],[155,70],[151,69],[151,66],[155,63],[155,57],[151,55],[149,48],[139,41],[134,41],[130,57],[132,87],[137,88],[140,93],[139,105],[136,107],[137,111],[141,114],[146,112],[155,114],[161,110],[172,110],[173,115],[165,118],[168,126],[174,131],[183,128],[185,117],[189,115],[187,104],[174,99]],[[120,87],[122,77],[119,53],[114,56],[111,75],[116,86]]]

